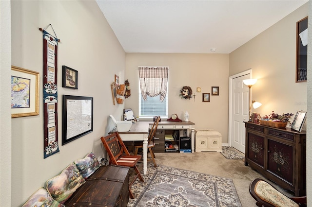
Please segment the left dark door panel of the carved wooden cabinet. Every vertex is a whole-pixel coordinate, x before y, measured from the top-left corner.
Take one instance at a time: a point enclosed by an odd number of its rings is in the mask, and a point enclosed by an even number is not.
[[[248,133],[248,158],[264,167],[264,138]]]

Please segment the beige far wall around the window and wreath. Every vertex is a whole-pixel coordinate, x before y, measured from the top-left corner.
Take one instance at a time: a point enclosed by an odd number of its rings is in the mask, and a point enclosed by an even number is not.
[[[125,78],[131,86],[131,97],[125,100],[125,107],[132,108],[138,115],[138,66],[168,66],[169,70],[169,116],[176,113],[184,120],[188,111],[189,121],[195,129],[215,129],[222,134],[222,142],[228,141],[228,54],[160,54],[127,53]],[[183,86],[190,86],[195,99],[179,97]],[[202,102],[202,93],[210,93],[211,87],[219,86],[219,96],[211,96],[210,102]],[[201,87],[201,92],[196,92]]]

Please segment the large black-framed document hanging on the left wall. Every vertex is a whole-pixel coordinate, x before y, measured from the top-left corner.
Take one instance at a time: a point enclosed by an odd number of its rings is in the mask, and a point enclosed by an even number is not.
[[[93,97],[63,95],[62,145],[93,131]]]

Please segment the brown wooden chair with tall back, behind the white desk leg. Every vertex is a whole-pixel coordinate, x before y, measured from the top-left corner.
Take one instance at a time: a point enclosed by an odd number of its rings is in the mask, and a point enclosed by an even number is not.
[[[147,145],[147,148],[151,154],[151,157],[154,162],[154,166],[157,167],[157,164],[156,164],[156,161],[155,161],[155,154],[154,154],[154,151],[153,151],[153,147],[155,147],[155,134],[156,134],[156,130],[157,130],[157,126],[158,126],[158,122],[160,120],[160,116],[156,117],[155,121],[154,121],[154,124],[152,126],[152,129],[149,133],[149,136],[148,136],[148,145]],[[134,144],[134,148],[135,148],[135,155],[137,155],[137,152],[138,152],[138,149],[143,149],[143,142],[135,142]]]

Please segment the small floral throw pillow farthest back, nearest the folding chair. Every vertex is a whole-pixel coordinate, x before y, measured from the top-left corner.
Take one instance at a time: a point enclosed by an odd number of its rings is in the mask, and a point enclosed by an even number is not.
[[[79,169],[82,177],[85,179],[87,179],[100,167],[96,155],[94,155],[92,152],[86,155],[84,158],[76,160],[75,164]]]

